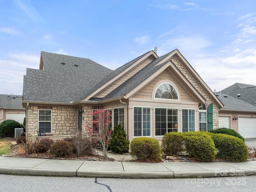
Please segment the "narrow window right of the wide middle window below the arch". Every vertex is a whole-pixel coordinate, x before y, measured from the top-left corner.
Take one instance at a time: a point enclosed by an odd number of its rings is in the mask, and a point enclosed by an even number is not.
[[[182,132],[195,131],[195,110],[182,109]]]

